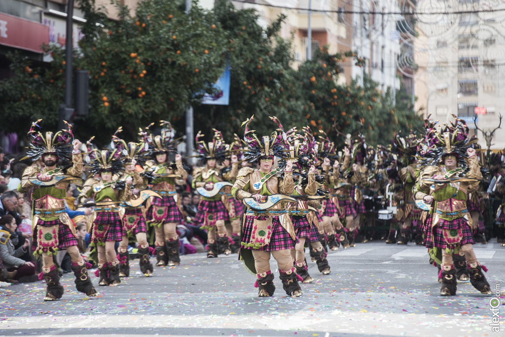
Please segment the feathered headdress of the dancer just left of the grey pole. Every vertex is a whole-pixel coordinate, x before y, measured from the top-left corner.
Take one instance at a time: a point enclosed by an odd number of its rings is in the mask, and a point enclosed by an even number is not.
[[[178,140],[174,139],[174,129],[170,122],[160,121],[162,131],[161,135],[158,136],[148,133],[150,127],[153,125],[154,123],[151,123],[144,130],[140,129],[139,132],[141,142],[144,143],[146,155],[152,158],[159,152],[165,152],[167,154],[177,153]]]

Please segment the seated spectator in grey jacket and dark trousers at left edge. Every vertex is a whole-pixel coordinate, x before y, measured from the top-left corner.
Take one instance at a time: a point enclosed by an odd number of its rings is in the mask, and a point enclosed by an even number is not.
[[[9,279],[11,282],[35,282],[38,276],[35,275],[35,264],[20,259],[19,257],[26,254],[30,241],[26,240],[25,243],[15,249],[19,237],[15,234],[18,225],[16,219],[6,214],[0,218],[0,228],[8,232],[11,236],[5,244],[0,244],[0,254],[4,263],[4,278]],[[16,272],[15,274],[8,274],[8,272]]]

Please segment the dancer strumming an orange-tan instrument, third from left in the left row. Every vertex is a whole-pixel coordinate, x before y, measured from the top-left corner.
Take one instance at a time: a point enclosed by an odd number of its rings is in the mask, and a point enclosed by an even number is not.
[[[138,196],[139,191],[147,188],[147,178],[141,177],[136,170],[136,165],[139,167],[145,165],[145,152],[143,143],[126,142],[118,137],[114,137],[116,147],[120,151],[128,153],[128,160],[125,165],[125,173],[123,179],[127,177],[133,178],[132,195]],[[119,259],[119,277],[128,277],[130,275],[130,254],[128,252],[128,242],[130,237],[134,237],[138,243],[138,255],[140,257],[140,271],[147,277],[153,275],[153,265],[149,261],[149,244],[147,243],[147,227],[145,223],[145,208],[143,205],[137,207],[124,207],[123,219],[123,235],[118,248]]]

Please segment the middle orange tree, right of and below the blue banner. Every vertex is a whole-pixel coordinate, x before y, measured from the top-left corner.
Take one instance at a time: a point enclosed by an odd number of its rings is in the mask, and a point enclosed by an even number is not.
[[[214,12],[226,38],[230,103],[195,104],[195,132],[202,130],[210,137],[210,128],[217,128],[229,139],[233,133],[243,133],[240,124],[251,115],[255,115],[254,129],[258,134],[269,134],[275,129],[268,116],[277,116],[285,128],[289,127],[291,115],[301,116],[303,107],[289,94],[297,91],[290,74],[291,42],[277,36],[285,17],[280,16],[264,29],[254,10],[236,10],[227,0],[217,1]],[[178,128],[183,126],[181,121]]]

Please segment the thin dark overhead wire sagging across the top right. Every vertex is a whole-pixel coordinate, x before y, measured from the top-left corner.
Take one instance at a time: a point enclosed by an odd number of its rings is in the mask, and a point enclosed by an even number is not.
[[[272,8],[281,8],[287,10],[297,10],[297,11],[309,11],[308,8],[294,8],[294,7],[286,7],[286,6],[278,6],[278,5],[270,5],[270,4],[258,4],[251,0],[232,0],[235,3],[242,4],[250,4],[250,5],[258,5],[264,7],[272,7]],[[348,10],[317,10],[310,9],[311,12],[318,13],[338,13],[338,14],[373,14],[373,15],[455,15],[455,14],[477,14],[477,13],[495,13],[495,12],[503,12],[505,8],[500,9],[482,9],[482,10],[473,10],[473,11],[453,11],[453,12],[376,12],[376,11],[348,11]]]

